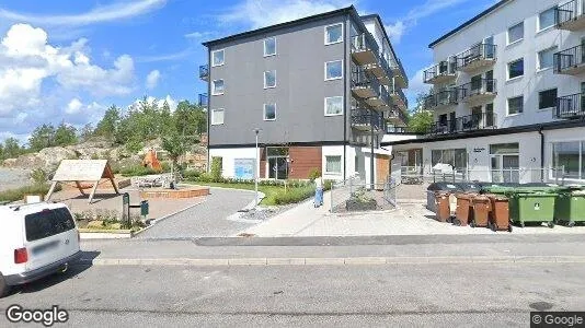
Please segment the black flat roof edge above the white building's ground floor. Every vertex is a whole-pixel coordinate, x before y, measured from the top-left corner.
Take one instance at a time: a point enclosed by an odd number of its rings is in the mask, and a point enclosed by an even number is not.
[[[477,131],[470,131],[470,132],[463,132],[463,133],[440,134],[440,136],[432,136],[428,138],[381,142],[381,145],[427,143],[427,142],[436,142],[436,141],[449,141],[449,140],[459,140],[459,139],[471,139],[471,138],[481,138],[481,137],[491,137],[491,136],[523,133],[523,132],[536,132],[540,130],[558,130],[558,129],[582,128],[582,127],[585,127],[585,120],[561,120],[561,121],[552,121],[552,122],[538,124],[538,125],[527,125],[527,126],[520,126],[520,127],[511,127],[511,128],[502,128],[502,129],[493,129],[493,130],[477,130]]]

